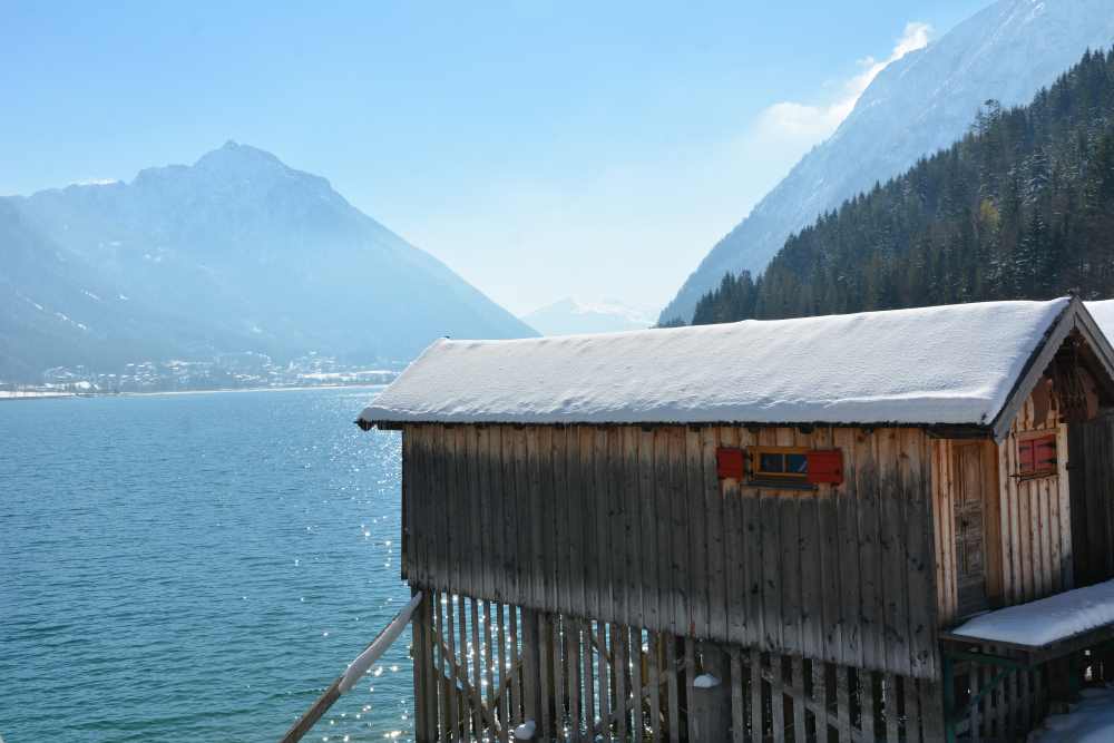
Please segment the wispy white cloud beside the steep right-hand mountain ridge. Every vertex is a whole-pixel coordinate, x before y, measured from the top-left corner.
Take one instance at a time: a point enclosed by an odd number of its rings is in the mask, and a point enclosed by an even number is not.
[[[797,151],[797,156],[803,155],[809,147],[823,141],[836,131],[879,72],[910,51],[928,46],[931,32],[932,28],[928,23],[906,23],[905,32],[886,59],[867,57],[859,60],[862,71],[843,81],[836,100],[828,104],[776,102],[759,115],[750,138],[762,147],[781,144]]]

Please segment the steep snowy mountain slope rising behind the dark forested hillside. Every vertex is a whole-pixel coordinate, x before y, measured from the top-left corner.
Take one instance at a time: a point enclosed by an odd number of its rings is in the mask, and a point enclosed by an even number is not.
[[[1089,49],[1114,42],[1110,0],[1000,0],[883,69],[688,276],[661,320],[687,320],[727,272],[758,274],[790,234],[961,137],[987,99],[1016,106]]]

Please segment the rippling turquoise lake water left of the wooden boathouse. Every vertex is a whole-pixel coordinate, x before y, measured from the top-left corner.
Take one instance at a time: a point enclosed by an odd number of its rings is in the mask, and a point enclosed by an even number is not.
[[[3,741],[277,741],[409,597],[373,394],[0,402]],[[409,642],[305,740],[410,737]]]

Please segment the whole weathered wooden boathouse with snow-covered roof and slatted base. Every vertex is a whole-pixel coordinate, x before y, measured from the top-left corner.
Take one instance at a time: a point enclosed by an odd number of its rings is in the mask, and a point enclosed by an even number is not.
[[[358,421],[402,436],[416,737],[1023,737],[1110,626],[964,622],[1114,578],[1112,407],[1077,299],[439,341]]]

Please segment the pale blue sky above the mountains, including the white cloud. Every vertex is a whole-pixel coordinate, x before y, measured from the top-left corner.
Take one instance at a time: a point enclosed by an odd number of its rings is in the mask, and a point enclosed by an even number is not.
[[[891,60],[987,0],[0,0],[0,194],[228,139],[510,311],[656,312]]]

